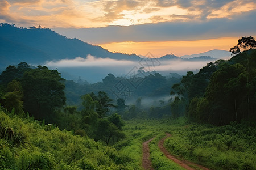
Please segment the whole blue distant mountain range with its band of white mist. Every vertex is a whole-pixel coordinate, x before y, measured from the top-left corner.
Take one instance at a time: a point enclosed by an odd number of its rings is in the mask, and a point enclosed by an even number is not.
[[[94,57],[88,58],[89,54]],[[170,73],[183,75],[225,57],[231,57],[225,50],[210,50],[181,57],[167,54],[156,58],[158,62],[152,61],[158,63],[154,65],[150,64],[151,61],[143,61],[144,56],[109,52],[101,46],[68,39],[51,29],[18,28],[14,24],[0,23],[0,73],[9,65],[27,62],[29,65],[57,68],[65,79],[77,80],[81,77],[89,82],[98,82],[108,73],[117,76],[135,74],[137,70],[133,69],[142,66],[150,66],[149,70],[159,71],[166,76]],[[61,65],[63,61],[65,66]]]

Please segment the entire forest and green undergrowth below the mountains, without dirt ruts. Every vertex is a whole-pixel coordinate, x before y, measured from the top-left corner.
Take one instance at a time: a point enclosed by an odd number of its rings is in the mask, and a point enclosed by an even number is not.
[[[176,158],[256,169],[255,48],[253,37],[242,37],[231,59],[196,74],[140,68],[136,79],[109,73],[93,84],[10,65],[0,75],[0,168],[143,169],[142,143],[155,137],[152,167],[182,169],[158,148],[169,133],[163,145]]]

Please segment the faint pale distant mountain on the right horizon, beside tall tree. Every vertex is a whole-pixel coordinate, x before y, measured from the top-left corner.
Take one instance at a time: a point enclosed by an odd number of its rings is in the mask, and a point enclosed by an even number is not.
[[[199,54],[192,54],[192,55],[185,55],[181,56],[181,58],[194,58],[200,56],[210,56],[217,59],[229,59],[231,57],[231,53],[226,50],[209,50],[208,52],[199,53]]]

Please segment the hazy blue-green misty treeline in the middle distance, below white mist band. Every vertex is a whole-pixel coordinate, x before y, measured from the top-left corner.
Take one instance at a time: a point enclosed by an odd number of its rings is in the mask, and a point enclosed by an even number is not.
[[[137,71],[137,70],[136,70]],[[162,76],[159,73],[145,72],[142,68],[134,75],[119,77],[109,73],[102,82],[89,84],[79,79],[65,81],[65,95],[68,105],[80,106],[82,103],[81,94],[88,94],[104,91],[108,96],[117,102],[117,99],[124,99],[126,103],[135,103],[135,100],[155,99],[162,96],[168,96],[171,87],[179,83],[182,76],[171,73],[168,76]]]

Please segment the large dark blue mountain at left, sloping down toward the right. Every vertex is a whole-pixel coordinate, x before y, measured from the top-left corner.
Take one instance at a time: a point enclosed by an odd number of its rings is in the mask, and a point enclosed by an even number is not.
[[[68,39],[51,29],[18,28],[14,24],[0,23],[0,67],[15,65],[21,61],[43,65],[46,61],[86,58],[88,54],[98,58],[139,61],[135,54],[112,53],[101,46],[78,39]]]

